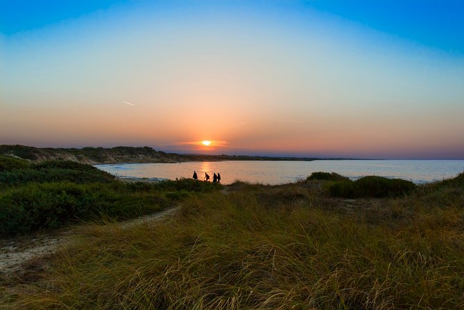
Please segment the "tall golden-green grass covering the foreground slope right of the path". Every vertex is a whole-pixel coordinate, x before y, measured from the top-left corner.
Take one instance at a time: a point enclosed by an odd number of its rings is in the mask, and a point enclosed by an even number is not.
[[[463,174],[395,199],[333,199],[320,182],[235,183],[164,225],[86,226],[14,306],[464,307]]]

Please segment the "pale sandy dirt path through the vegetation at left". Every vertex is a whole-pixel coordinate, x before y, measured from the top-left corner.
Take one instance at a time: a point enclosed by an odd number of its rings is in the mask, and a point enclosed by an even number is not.
[[[130,227],[142,222],[158,221],[174,214],[179,209],[180,207],[176,206],[165,211],[121,222],[119,225]],[[0,239],[0,275],[9,275],[18,272],[26,261],[53,254],[60,246],[69,242],[73,236],[73,232],[74,229],[69,228],[51,234]]]

